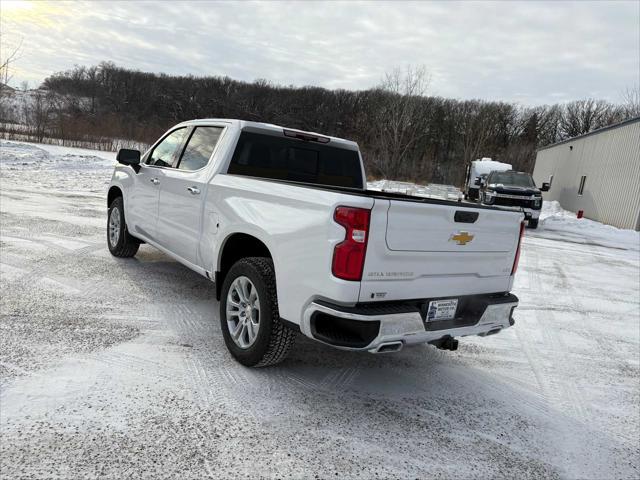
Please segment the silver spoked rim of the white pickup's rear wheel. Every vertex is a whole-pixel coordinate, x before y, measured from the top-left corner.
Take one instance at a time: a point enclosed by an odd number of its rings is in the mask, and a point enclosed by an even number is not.
[[[227,294],[227,326],[234,343],[249,348],[258,338],[260,299],[247,277],[236,278]]]

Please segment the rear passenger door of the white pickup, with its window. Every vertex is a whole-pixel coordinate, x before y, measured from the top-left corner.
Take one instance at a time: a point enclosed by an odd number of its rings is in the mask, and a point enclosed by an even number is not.
[[[164,171],[160,186],[158,241],[169,251],[199,265],[198,244],[208,168],[222,127],[197,126],[175,163]]]

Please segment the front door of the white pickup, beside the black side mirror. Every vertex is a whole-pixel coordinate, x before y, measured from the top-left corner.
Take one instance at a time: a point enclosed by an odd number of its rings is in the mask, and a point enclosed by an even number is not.
[[[160,186],[167,168],[171,167],[184,143],[186,133],[186,127],[169,132],[153,147],[140,165],[127,206],[127,225],[134,235],[137,233],[149,240],[157,241]]]

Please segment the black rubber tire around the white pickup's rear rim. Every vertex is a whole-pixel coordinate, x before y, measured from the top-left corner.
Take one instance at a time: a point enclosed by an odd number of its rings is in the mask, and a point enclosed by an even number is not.
[[[246,348],[241,348],[234,342],[227,323],[227,297],[231,285],[238,277],[247,277],[251,281],[258,293],[260,304],[258,333],[254,343]],[[243,258],[231,267],[222,284],[220,326],[229,352],[242,365],[266,367],[280,363],[287,357],[296,333],[280,320],[276,277],[270,258]]]

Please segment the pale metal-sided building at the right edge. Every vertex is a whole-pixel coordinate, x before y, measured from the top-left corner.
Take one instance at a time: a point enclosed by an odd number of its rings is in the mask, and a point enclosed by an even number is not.
[[[540,149],[533,178],[551,183],[545,200],[640,230],[640,117]]]

